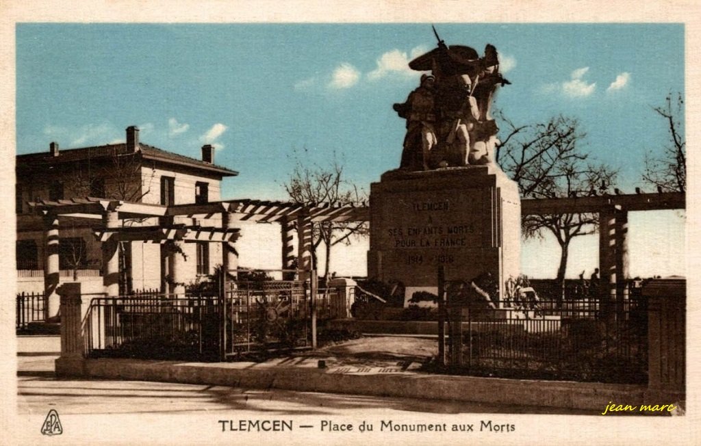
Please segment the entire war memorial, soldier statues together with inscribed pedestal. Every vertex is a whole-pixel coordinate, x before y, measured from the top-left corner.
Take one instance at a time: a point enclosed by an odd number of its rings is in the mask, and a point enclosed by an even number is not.
[[[501,299],[519,274],[521,205],[517,184],[494,162],[490,108],[510,82],[491,45],[480,57],[439,38],[409,67],[430,74],[394,105],[407,134],[400,168],[371,186],[368,276],[402,284],[406,305],[414,293],[437,293],[442,265],[448,280],[491,281]]]

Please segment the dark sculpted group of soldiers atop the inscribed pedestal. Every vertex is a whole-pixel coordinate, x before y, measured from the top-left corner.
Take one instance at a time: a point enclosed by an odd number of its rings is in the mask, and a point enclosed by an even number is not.
[[[394,104],[407,120],[400,169],[486,165],[493,162],[497,127],[491,102],[498,85],[509,84],[499,73],[496,48],[484,56],[468,46],[438,47],[409,62],[421,84],[403,104]]]

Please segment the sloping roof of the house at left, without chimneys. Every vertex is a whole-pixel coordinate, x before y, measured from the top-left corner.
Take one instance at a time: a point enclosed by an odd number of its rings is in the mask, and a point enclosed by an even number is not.
[[[127,155],[128,151],[126,144],[106,144],[104,146],[95,147],[60,149],[57,156],[51,155],[48,151],[17,155],[17,166],[32,167],[63,162],[76,162],[88,159],[94,160],[95,158],[107,158],[113,156],[115,153],[117,155]],[[197,160],[196,158],[190,158],[189,156],[179,155],[178,153],[164,151],[161,148],[149,146],[143,143],[139,143],[137,153],[140,153],[144,160],[154,160],[165,162],[167,164],[191,167],[194,169],[203,169],[222,176],[238,175],[238,172],[235,170],[210,164],[209,162]]]

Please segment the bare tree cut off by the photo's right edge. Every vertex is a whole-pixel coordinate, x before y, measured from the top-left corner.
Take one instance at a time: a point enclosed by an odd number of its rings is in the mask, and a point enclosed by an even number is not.
[[[684,100],[681,93],[670,93],[663,106],[654,107],[667,123],[669,143],[660,153],[645,155],[643,181],[660,192],[686,192],[686,141],[684,140]]]

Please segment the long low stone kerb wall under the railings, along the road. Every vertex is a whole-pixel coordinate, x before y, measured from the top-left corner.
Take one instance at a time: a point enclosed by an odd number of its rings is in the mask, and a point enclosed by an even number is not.
[[[326,393],[534,405],[601,412],[609,401],[639,405],[646,386],[534,381],[454,375],[353,375],[315,368],[252,363],[182,363],[134,359],[86,359],[86,377],[287,389]]]

